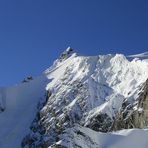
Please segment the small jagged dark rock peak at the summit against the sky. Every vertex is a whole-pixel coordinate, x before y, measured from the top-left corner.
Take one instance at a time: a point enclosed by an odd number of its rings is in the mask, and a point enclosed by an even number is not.
[[[66,60],[74,53],[74,49],[71,47],[68,47],[61,55],[60,55],[60,62]]]

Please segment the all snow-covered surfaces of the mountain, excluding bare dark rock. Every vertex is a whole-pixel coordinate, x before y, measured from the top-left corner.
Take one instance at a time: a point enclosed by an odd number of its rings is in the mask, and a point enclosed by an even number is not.
[[[0,148],[21,147],[22,139],[29,133],[29,127],[35,118],[37,105],[45,99],[47,90],[54,96],[52,107],[56,111],[66,109],[72,113],[71,118],[76,112],[82,118],[80,122],[87,126],[100,112],[113,118],[125,98],[134,102],[147,78],[148,60],[141,58],[141,55],[136,55],[136,58],[122,54],[91,57],[73,53],[64,60],[58,59],[34,80],[0,88],[0,108],[4,109],[0,113]],[[74,97],[72,88],[78,82],[85,86],[82,89],[85,94]],[[66,106],[60,104],[62,97],[70,98]],[[83,112],[78,107],[78,101],[82,97],[86,103]],[[58,118],[63,116],[64,113],[61,113]],[[52,122],[50,116],[48,120]],[[77,130],[79,132],[75,132]],[[76,125],[61,136],[63,140],[59,143],[69,148],[73,148],[73,142],[82,148],[148,147],[148,131],[140,129],[100,133]]]

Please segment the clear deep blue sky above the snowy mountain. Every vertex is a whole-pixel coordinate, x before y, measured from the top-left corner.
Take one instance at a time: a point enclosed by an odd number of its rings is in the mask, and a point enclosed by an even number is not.
[[[148,51],[147,0],[1,0],[0,86],[79,54]]]

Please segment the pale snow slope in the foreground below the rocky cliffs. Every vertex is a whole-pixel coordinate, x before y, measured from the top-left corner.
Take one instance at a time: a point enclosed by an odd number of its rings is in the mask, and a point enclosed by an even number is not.
[[[148,130],[133,129],[100,133],[77,125],[67,129],[65,134],[61,135],[62,140],[54,146],[66,148],[147,148],[147,137]]]

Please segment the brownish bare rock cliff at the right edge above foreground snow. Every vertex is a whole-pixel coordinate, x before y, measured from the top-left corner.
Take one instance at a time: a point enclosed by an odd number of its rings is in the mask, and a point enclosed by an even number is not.
[[[117,113],[112,130],[148,127],[148,79],[133,104],[127,100]]]

